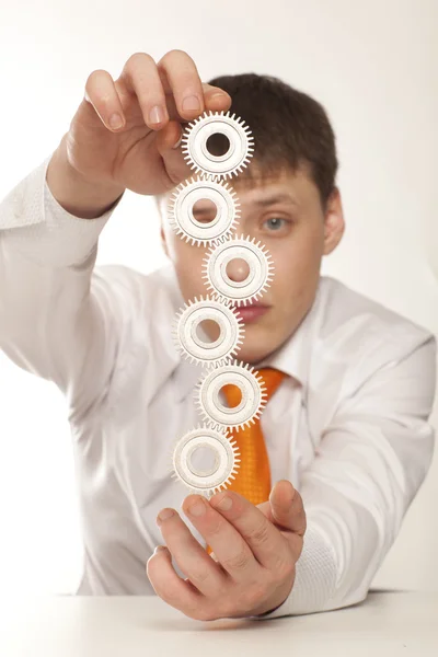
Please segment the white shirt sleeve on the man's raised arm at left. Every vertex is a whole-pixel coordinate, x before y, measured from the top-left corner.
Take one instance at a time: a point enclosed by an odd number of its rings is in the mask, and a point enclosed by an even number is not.
[[[116,295],[93,270],[119,199],[96,219],[70,215],[47,185],[50,158],[0,204],[0,349],[56,383],[72,419],[104,395],[117,350]]]

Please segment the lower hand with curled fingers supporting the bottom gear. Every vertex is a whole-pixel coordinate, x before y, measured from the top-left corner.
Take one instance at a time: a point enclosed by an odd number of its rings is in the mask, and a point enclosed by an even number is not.
[[[160,511],[157,522],[168,546],[147,563],[160,598],[200,621],[260,615],[283,604],[293,587],[306,532],[302,499],[290,482],[277,482],[269,500],[257,506],[239,493],[222,491],[210,500],[188,495],[183,510],[214,554],[175,509]],[[163,511],[173,515],[160,520]],[[172,556],[186,579],[176,574]]]

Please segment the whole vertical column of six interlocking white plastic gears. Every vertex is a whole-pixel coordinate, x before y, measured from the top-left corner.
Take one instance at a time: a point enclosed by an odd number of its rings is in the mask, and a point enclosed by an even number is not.
[[[208,150],[212,135],[227,138],[226,153],[216,155]],[[237,309],[263,296],[274,267],[260,242],[234,234],[240,204],[224,182],[247,166],[254,152],[253,141],[251,130],[234,114],[209,112],[191,123],[182,145],[185,160],[197,177],[182,183],[169,205],[170,223],[176,233],[193,245],[209,247],[203,263],[208,293],[186,304],[173,326],[175,344],[183,356],[207,368],[196,389],[204,425],[188,431],[172,449],[172,476],[192,493],[207,497],[227,488],[239,470],[239,450],[228,430],[239,431],[254,424],[266,404],[262,377],[247,364],[234,359],[244,337]],[[216,217],[208,223],[194,216],[199,200],[216,206]],[[227,273],[229,263],[237,260],[246,264],[249,274],[244,280],[233,280]],[[214,342],[199,335],[199,326],[206,321],[215,322],[219,328],[219,337]],[[229,384],[241,392],[240,403],[232,408],[222,404],[220,395]],[[193,463],[199,448],[208,448],[215,454],[215,463],[208,470]]]

